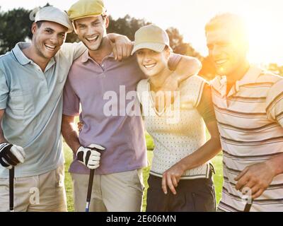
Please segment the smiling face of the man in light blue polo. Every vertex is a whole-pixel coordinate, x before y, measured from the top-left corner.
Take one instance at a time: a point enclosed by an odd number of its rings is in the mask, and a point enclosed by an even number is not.
[[[33,23],[33,45],[36,54],[50,60],[66,40],[68,28],[50,21]]]

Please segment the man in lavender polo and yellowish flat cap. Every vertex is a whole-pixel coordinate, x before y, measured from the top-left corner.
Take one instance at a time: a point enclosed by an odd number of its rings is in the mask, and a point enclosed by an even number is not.
[[[88,47],[74,61],[64,88],[62,134],[75,157],[69,169],[74,184],[74,208],[84,211],[89,169],[96,169],[91,211],[140,211],[146,142],[134,91],[144,75],[135,57],[115,61],[106,37],[109,20],[102,1],[80,0],[68,13],[76,34]],[[181,59],[175,55],[171,64],[176,61],[180,62],[174,79],[199,70],[198,62],[190,57]],[[182,71],[187,69],[184,64],[192,65],[192,71]],[[80,113],[80,104],[83,127],[78,136],[74,117]],[[135,112],[131,112],[132,107]],[[100,155],[91,151],[89,145],[105,150]]]

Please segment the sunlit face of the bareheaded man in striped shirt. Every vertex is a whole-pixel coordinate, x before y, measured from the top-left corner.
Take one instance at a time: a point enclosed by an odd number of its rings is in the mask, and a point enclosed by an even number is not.
[[[232,76],[246,65],[248,43],[233,29],[223,26],[207,31],[209,57],[220,76]]]

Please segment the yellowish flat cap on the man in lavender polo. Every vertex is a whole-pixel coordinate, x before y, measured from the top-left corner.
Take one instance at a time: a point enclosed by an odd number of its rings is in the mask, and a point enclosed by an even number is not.
[[[68,11],[70,20],[78,20],[89,16],[100,16],[105,13],[102,0],[79,0]]]

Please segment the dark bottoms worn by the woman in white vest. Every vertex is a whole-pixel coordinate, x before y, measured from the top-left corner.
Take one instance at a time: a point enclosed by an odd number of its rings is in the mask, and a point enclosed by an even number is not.
[[[173,195],[164,194],[161,177],[149,175],[146,212],[215,212],[216,199],[212,177],[180,180]]]

